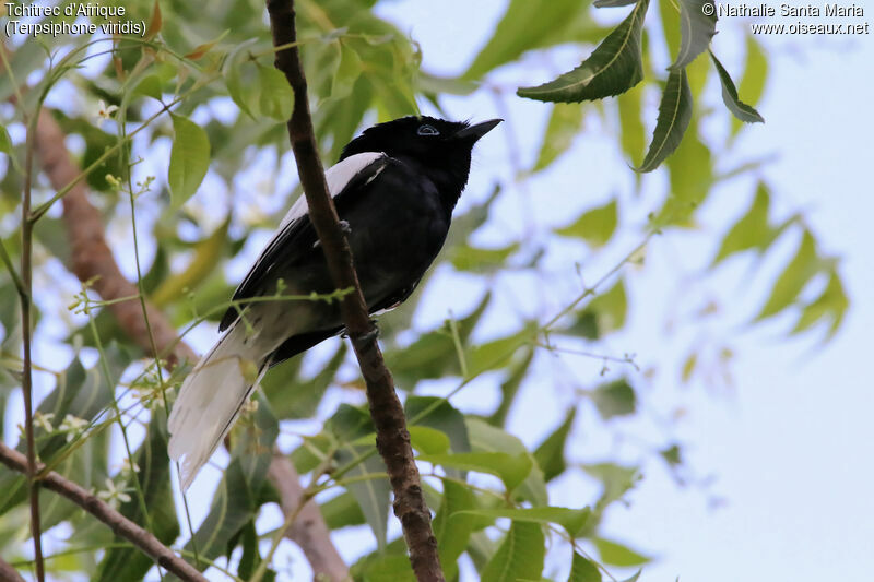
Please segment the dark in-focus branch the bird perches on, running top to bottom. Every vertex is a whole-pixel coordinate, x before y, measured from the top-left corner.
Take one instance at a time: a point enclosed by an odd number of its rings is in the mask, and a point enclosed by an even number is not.
[[[273,46],[296,40],[293,0],[267,0]],[[309,114],[307,82],[297,46],[276,52],[276,69],[285,74],[294,90],[294,112],[288,120],[288,138],[294,150],[300,185],[304,187],[309,217],[321,241],[328,268],[336,288],[354,288],[343,296],[341,308],[352,346],[358,358],[370,416],[377,433],[377,449],[386,462],[394,491],[394,514],[401,521],[410,562],[420,581],[444,580],[437,554],[437,541],[430,526],[422,484],[410,446],[410,432],[403,407],[394,392],[394,381],[382,359],[377,330],[370,320],[346,237],[340,227],[333,200],[328,192],[324,170]]]

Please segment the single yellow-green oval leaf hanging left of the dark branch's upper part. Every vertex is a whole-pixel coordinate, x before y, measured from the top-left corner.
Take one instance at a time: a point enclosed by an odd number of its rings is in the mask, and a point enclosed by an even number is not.
[[[197,192],[210,169],[210,140],[203,128],[186,117],[170,114],[173,149],[167,183],[173,194],[173,207],[178,209]]]

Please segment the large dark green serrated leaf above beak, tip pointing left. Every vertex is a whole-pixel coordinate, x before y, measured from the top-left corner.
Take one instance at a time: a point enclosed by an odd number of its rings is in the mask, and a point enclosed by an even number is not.
[[[638,84],[643,79],[640,36],[648,5],[649,0],[638,0],[628,17],[579,67],[517,94],[547,102],[580,102],[618,95]]]

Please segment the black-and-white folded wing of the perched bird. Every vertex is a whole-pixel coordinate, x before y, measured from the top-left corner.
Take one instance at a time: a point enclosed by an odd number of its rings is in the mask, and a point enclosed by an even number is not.
[[[357,183],[367,183],[373,180],[388,164],[389,157],[379,152],[368,152],[355,154],[342,162],[331,166],[326,173],[324,178],[328,182],[328,191],[332,198],[338,198],[344,191]],[[300,197],[288,209],[285,217],[280,223],[280,227],[273,238],[267,244],[255,264],[243,278],[243,282],[234,292],[233,300],[248,299],[258,296],[264,289],[264,283],[269,282],[268,275],[280,263],[287,263],[297,252],[307,252],[312,248],[312,242],[308,240],[296,240],[305,233],[312,230],[308,219],[309,209],[305,197]],[[309,233],[315,236],[314,233]],[[229,307],[225,311],[218,331],[224,331],[239,317],[236,307]]]

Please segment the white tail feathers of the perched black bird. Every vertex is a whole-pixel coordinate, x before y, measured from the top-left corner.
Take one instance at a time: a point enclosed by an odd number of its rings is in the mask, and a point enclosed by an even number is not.
[[[167,428],[167,452],[180,461],[182,490],[209,461],[267,371],[264,354],[247,346],[239,321],[203,356],[182,382]]]

